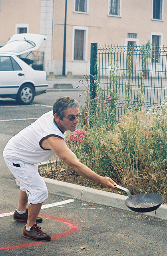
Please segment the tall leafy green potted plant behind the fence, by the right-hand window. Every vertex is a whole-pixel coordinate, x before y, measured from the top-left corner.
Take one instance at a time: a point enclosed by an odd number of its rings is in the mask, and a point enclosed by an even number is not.
[[[151,43],[150,40],[148,40],[147,44],[143,44],[143,46],[141,46],[141,59],[142,59],[142,76],[145,78],[148,78],[149,75],[149,68],[148,68],[148,64],[149,64],[149,58],[152,57],[151,56]]]

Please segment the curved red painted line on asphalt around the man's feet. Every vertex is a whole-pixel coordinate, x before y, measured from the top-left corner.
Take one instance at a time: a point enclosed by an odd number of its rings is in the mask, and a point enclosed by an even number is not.
[[[56,217],[48,216],[48,215],[41,215],[41,214],[39,216],[46,217],[46,218],[51,218],[51,219],[63,222],[64,224],[70,226],[71,229],[69,231],[66,231],[66,232],[64,232],[62,234],[59,234],[59,235],[56,235],[56,236],[53,236],[51,240],[54,240],[54,239],[62,237],[62,236],[66,236],[68,234],[71,234],[74,231],[76,231],[76,229],[77,229],[77,226],[74,223],[69,222],[68,220],[64,220],[62,218],[56,218]],[[26,246],[32,246],[32,245],[42,244],[42,243],[46,243],[46,242],[45,241],[39,241],[39,242],[36,241],[36,242],[32,242],[30,244],[20,244],[20,245],[15,245],[15,246],[0,247],[0,250],[17,249],[17,248],[23,248],[23,247],[26,247]]]

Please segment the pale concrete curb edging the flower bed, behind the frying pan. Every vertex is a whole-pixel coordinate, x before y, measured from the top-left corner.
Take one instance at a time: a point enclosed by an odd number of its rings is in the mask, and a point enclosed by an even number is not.
[[[43,178],[43,180],[46,182],[48,192],[50,192],[51,194],[66,196],[86,202],[103,204],[106,206],[112,206],[119,209],[131,211],[125,205],[125,200],[128,198],[128,196],[106,192],[103,190],[97,190],[94,188],[87,188],[84,186],[62,182],[59,180],[52,180],[49,178]],[[167,220],[167,205],[163,204],[157,210],[144,214]]]

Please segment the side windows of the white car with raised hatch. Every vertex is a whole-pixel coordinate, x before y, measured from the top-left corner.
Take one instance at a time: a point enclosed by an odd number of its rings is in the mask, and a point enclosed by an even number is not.
[[[22,70],[18,63],[9,56],[0,56],[0,71]]]

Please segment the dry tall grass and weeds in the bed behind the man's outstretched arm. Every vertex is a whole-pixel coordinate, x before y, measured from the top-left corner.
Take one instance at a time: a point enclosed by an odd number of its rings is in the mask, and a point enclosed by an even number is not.
[[[167,125],[165,104],[154,112],[128,111],[110,130],[87,129],[78,148],[80,160],[101,175],[111,176],[131,193],[167,196]]]

